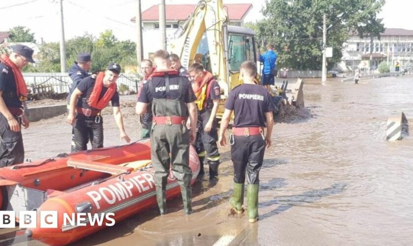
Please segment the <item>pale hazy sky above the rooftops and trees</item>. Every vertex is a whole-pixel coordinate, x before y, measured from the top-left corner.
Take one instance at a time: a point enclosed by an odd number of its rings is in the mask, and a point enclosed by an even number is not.
[[[63,0],[65,38],[79,36],[86,31],[99,35],[112,29],[118,39],[135,38],[135,27],[130,19],[135,15],[137,0]],[[159,0],[141,0],[145,10]],[[197,3],[198,0],[166,0],[166,4]],[[252,10],[245,21],[262,18],[260,10],[265,0],[224,0],[224,3],[251,3]],[[17,5],[21,4],[21,5]],[[12,5],[17,5],[10,7]],[[380,17],[387,28],[413,30],[413,22],[406,21],[411,15],[413,0],[387,0]],[[58,0],[1,0],[0,16],[5,20],[0,31],[8,31],[15,26],[28,27],[35,33],[37,42],[58,41],[60,38]]]

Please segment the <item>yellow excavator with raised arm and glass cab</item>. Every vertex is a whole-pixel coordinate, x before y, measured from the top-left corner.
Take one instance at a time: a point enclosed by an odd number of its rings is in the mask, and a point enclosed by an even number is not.
[[[171,53],[177,54],[182,66],[201,62],[217,79],[221,87],[221,101],[217,118],[224,113],[229,92],[242,81],[239,67],[244,61],[257,61],[255,32],[249,28],[228,25],[229,19],[222,0],[201,0],[169,41]],[[257,45],[258,46],[258,45]],[[257,84],[260,77],[257,75]],[[302,80],[293,86],[283,83],[274,87],[276,112],[285,105],[304,106]]]

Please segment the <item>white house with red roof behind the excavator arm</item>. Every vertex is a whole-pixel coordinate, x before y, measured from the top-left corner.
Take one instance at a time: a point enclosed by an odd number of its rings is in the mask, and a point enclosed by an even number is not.
[[[183,22],[195,10],[195,4],[168,4],[166,12],[166,36],[169,39],[178,28],[178,22]],[[244,18],[252,8],[251,3],[224,4],[228,10],[229,25],[242,26]],[[135,22],[135,17],[131,19]],[[153,5],[142,12],[144,58],[148,58],[160,48],[161,33],[159,31],[158,5]],[[181,23],[182,24],[182,23]]]

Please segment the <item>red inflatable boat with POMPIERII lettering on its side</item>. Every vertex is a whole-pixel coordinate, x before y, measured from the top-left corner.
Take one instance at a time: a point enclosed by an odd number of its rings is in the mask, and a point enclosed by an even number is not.
[[[193,184],[200,163],[192,146],[189,166]],[[17,221],[20,211],[37,211],[36,228],[27,229],[26,236],[66,245],[155,206],[153,175],[149,140],[5,167],[0,169],[1,210],[15,211]],[[167,199],[178,195],[171,172]],[[55,228],[41,226],[45,211],[57,211]],[[70,223],[68,218],[78,214],[82,219]]]

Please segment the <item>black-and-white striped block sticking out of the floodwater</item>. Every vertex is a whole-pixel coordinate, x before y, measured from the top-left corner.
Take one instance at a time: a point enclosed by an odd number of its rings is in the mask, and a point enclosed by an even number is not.
[[[409,136],[409,122],[403,112],[397,116],[389,117],[387,120],[386,140],[402,140]]]

